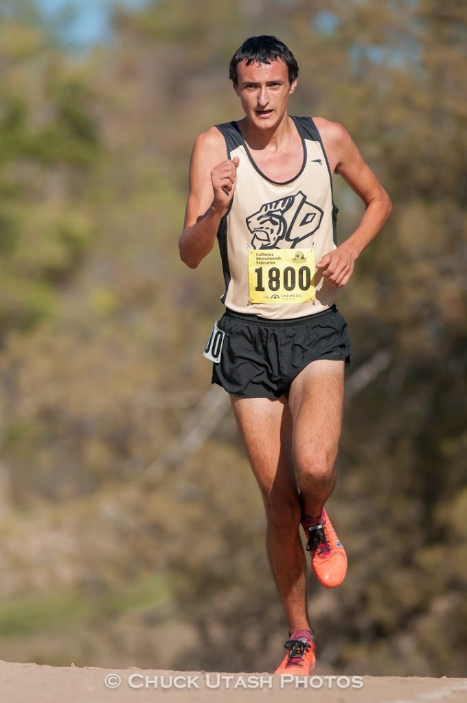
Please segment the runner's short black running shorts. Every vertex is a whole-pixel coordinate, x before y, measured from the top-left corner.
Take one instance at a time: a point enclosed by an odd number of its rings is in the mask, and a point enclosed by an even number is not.
[[[316,359],[350,361],[347,323],[335,305],[292,320],[227,310],[217,328],[225,335],[212,383],[241,398],[280,398]]]

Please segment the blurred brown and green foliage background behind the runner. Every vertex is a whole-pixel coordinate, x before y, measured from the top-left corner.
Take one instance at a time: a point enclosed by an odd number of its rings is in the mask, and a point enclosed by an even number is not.
[[[177,248],[193,141],[241,117],[229,60],[271,33],[300,65],[290,112],[342,122],[394,204],[340,299],[350,569],[310,574],[319,666],[465,676],[467,7],[148,0],[86,51],[65,20],[0,8],[0,659],[281,656],[262,503],[201,355],[219,257]],[[362,205],[335,188],[342,239]]]

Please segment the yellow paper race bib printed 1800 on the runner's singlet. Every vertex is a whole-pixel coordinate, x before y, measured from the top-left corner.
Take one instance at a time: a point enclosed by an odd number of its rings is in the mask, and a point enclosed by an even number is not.
[[[248,286],[252,303],[314,300],[314,250],[250,249]]]

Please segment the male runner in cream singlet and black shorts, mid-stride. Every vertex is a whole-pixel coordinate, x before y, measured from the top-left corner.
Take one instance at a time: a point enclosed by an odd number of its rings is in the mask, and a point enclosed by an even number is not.
[[[288,115],[298,65],[285,44],[250,37],[229,76],[245,117],[196,139],[180,255],[196,269],[219,240],[226,312],[205,356],[214,362],[212,382],[230,394],[262,491],[267,553],[289,628],[276,673],[306,675],[315,645],[300,524],[324,586],[338,586],[347,569],[324,510],[336,479],[350,352],[334,300],[391,204],[340,124]],[[365,204],[340,246],[333,173]]]

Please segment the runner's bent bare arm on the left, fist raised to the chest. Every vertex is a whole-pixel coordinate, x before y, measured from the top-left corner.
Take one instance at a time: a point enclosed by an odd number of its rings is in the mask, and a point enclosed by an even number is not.
[[[221,218],[236,186],[238,157],[226,159],[224,137],[216,127],[196,139],[190,161],[190,182],[184,231],[179,238],[180,258],[196,267],[214,246]]]

